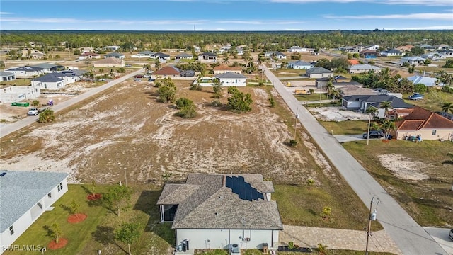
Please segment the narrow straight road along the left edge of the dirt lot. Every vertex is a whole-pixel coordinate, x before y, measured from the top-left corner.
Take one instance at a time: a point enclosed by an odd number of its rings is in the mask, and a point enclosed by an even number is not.
[[[84,94],[74,96],[73,98],[71,98],[67,101],[63,101],[62,103],[58,103],[55,106],[51,106],[51,108],[55,113],[57,113],[59,111],[62,111],[65,108],[68,108],[69,106],[79,103],[80,101],[83,101],[86,98],[89,98],[90,96],[94,96],[94,95],[98,94],[99,92],[104,91],[105,89],[109,89],[112,86],[115,86],[116,84],[119,84],[120,82],[125,81],[126,79],[129,79],[130,77],[133,77],[136,74],[140,74],[142,72],[144,72],[144,69],[139,69],[130,74],[126,74],[124,77],[115,79],[113,81],[108,82],[107,84],[104,84],[102,86],[98,86],[97,88],[86,91]],[[12,132],[15,132],[17,130],[20,130],[21,128],[24,128],[27,125],[35,123],[37,120],[38,120],[38,116],[29,116],[27,118],[23,118],[22,120],[16,121],[15,123],[11,123],[8,125],[1,125],[0,138],[4,137],[6,135],[9,135]]]

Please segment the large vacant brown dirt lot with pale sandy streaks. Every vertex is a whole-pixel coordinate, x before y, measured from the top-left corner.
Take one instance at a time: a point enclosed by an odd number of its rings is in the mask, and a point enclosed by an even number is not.
[[[129,81],[57,115],[55,123],[36,123],[29,132],[5,137],[0,167],[64,171],[74,183],[124,181],[125,174],[127,181],[146,183],[161,181],[166,171],[175,179],[193,171],[251,172],[298,182],[326,166],[308,136],[309,149],[284,144],[292,134],[279,110],[268,106],[270,89],[241,89],[251,93],[253,111],[236,114],[210,106],[210,90],[190,91],[188,82],[175,83],[178,97],[197,104],[197,118],[174,116],[171,104],[156,101],[154,86]],[[226,89],[224,94],[222,103]]]

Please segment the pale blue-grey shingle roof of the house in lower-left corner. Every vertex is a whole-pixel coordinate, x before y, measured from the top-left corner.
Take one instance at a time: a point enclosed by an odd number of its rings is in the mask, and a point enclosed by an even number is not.
[[[47,196],[68,174],[31,171],[0,171],[0,233]]]

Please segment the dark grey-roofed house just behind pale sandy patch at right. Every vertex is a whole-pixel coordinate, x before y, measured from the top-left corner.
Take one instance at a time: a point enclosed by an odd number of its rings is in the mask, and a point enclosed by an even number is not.
[[[390,95],[355,95],[355,96],[343,96],[341,105],[346,110],[358,110],[362,113],[367,111],[369,106],[378,108],[377,116],[384,118],[384,109],[379,108],[379,104],[389,101],[391,102],[392,109],[404,109],[411,108],[413,105],[404,103],[403,99],[396,96]]]

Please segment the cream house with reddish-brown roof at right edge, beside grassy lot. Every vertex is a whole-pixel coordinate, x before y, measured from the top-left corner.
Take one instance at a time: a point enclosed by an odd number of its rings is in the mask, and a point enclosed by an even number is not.
[[[409,109],[408,109],[409,110]],[[453,140],[453,121],[419,106],[411,108],[411,113],[396,121],[396,139],[420,137],[420,140]]]

